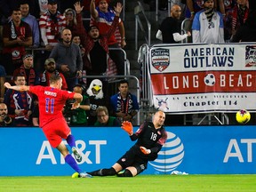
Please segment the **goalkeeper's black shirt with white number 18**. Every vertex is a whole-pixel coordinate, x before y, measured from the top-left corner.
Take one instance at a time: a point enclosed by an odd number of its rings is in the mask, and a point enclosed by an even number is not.
[[[153,123],[145,122],[130,138],[137,140],[135,145],[148,148],[151,153],[158,153],[167,140],[167,133],[163,126],[156,129]]]

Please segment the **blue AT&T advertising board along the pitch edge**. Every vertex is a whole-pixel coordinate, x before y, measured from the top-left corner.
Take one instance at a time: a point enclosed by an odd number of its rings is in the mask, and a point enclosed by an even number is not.
[[[138,127],[135,127],[137,129]],[[255,126],[165,127],[168,140],[143,174],[256,173]],[[133,142],[117,127],[73,127],[76,144],[84,153],[81,168],[90,172],[110,167]],[[0,176],[71,175],[73,170],[51,148],[40,128],[0,128]]]

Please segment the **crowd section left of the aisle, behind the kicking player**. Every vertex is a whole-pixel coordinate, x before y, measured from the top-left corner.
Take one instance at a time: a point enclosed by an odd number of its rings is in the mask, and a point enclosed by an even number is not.
[[[132,121],[139,105],[128,81],[121,80],[125,94],[118,92],[110,102],[108,79],[83,77],[124,75],[124,52],[109,49],[126,45],[119,18],[123,5],[109,3],[0,0],[0,126],[38,126],[40,121],[36,95],[5,90],[5,81],[48,86],[52,75],[61,76],[61,89],[83,95],[79,108],[71,109],[73,100],[63,108],[68,124],[120,126],[123,120]],[[91,21],[83,20],[91,16]]]

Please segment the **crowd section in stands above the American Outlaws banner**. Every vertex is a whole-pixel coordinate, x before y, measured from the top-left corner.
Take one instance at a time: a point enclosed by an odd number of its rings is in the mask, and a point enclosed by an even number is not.
[[[162,40],[164,44],[180,43],[191,34],[192,39],[188,38],[188,43],[255,42],[253,36],[255,1],[177,0],[172,2],[174,5],[170,10],[170,17],[163,20],[156,34],[156,38]],[[179,4],[185,5],[184,15],[180,15]],[[180,34],[180,18],[190,21],[184,34]]]

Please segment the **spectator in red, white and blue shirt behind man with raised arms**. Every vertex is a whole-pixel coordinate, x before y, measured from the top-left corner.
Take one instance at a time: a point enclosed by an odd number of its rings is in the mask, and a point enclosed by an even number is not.
[[[109,0],[92,0],[90,5],[90,11],[93,19],[93,24],[99,28],[100,35],[105,34],[115,18],[115,12],[108,7]],[[117,3],[119,8],[122,11],[122,5]],[[117,6],[116,4],[116,6]],[[95,7],[95,5],[97,7]],[[121,12],[120,11],[120,12]],[[118,12],[120,14],[120,12]],[[124,23],[119,19],[118,28],[121,34],[121,47],[124,48],[126,45],[125,36],[124,36]],[[108,38],[108,47],[109,48],[118,48],[119,45],[116,41],[116,36],[112,35]],[[109,57],[116,63],[117,74],[124,75],[124,52],[121,50],[109,50]]]

